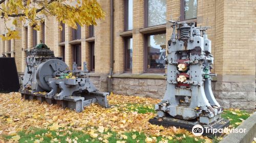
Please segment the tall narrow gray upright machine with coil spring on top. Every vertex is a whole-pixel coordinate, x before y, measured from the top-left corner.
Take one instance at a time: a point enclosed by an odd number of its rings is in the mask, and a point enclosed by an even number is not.
[[[166,91],[162,101],[155,105],[157,117],[150,122],[187,129],[197,124],[227,126],[229,122],[221,118],[223,108],[211,90],[211,79],[216,74],[210,73],[214,58],[205,32],[209,27],[197,28],[194,22],[170,22],[173,34],[165,58]],[[221,122],[225,124],[220,126]]]

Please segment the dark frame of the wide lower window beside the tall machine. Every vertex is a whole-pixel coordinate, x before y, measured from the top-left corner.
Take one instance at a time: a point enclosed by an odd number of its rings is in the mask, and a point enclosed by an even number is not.
[[[166,30],[160,31],[160,32],[154,32],[154,33],[147,33],[144,34],[144,53],[143,53],[143,60],[144,60],[144,73],[165,73],[165,68],[147,68],[147,54],[148,54],[148,36],[151,35],[157,35],[157,34],[165,34],[166,36]],[[167,46],[166,46],[167,47]],[[167,51],[167,49],[166,49]]]

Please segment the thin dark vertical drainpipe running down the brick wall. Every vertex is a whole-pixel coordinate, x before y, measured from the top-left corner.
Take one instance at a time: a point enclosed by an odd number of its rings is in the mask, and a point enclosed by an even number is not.
[[[108,92],[111,92],[112,75],[114,67],[114,0],[110,0],[110,74],[108,82]]]

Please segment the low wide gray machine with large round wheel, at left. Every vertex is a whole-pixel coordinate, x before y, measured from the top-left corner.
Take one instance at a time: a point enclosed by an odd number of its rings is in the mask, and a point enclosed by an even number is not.
[[[109,107],[106,99],[109,93],[95,88],[89,79],[86,62],[83,70],[77,70],[76,63],[73,63],[73,70],[69,70],[61,59],[54,57],[53,51],[45,44],[38,44],[27,52],[23,89],[19,90],[22,97],[57,103],[77,112],[91,103]]]

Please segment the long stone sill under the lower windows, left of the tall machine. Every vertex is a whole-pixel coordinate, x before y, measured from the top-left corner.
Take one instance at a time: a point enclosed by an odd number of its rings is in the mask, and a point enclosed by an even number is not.
[[[166,77],[163,74],[158,73],[143,73],[143,74],[132,74],[132,73],[123,73],[123,74],[114,74],[113,78],[133,78],[133,79],[165,79]]]

